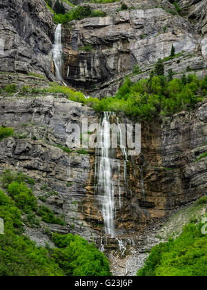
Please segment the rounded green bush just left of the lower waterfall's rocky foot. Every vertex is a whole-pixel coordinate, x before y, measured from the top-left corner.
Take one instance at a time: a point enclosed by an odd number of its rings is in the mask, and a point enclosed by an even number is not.
[[[52,235],[59,249],[52,250],[52,258],[67,276],[110,276],[110,267],[95,244],[88,244],[78,235]]]

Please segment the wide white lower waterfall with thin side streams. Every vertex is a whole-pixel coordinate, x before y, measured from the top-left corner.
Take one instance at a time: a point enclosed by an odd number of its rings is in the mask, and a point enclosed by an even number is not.
[[[116,158],[116,151],[110,144],[110,124],[117,124],[118,145],[121,148],[124,160],[123,183],[125,190],[127,190],[126,164],[128,162],[128,154],[124,144],[121,124],[115,113],[104,112],[103,117],[100,119],[99,131],[97,132],[95,194],[101,205],[101,214],[106,234],[115,236],[116,196],[119,199],[117,204],[119,204],[119,209],[121,210],[121,165],[120,160],[118,162],[112,160],[112,158]],[[113,178],[113,171],[117,171],[117,184],[115,184],[116,181]]]

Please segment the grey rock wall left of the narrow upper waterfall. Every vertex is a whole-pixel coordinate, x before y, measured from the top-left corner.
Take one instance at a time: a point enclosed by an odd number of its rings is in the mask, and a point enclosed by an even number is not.
[[[1,0],[0,70],[39,72],[55,79],[51,73],[53,26],[52,13],[44,0]]]

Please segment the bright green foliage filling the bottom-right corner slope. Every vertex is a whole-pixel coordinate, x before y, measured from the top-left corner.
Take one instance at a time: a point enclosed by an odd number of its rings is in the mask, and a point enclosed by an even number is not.
[[[207,235],[188,224],[179,238],[155,246],[137,276],[207,276]]]

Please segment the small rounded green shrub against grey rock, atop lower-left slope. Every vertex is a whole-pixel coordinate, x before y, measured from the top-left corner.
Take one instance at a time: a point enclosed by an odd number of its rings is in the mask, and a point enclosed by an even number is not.
[[[26,184],[12,182],[8,186],[8,193],[23,212],[37,211],[37,198],[33,195],[32,189],[29,189]]]

